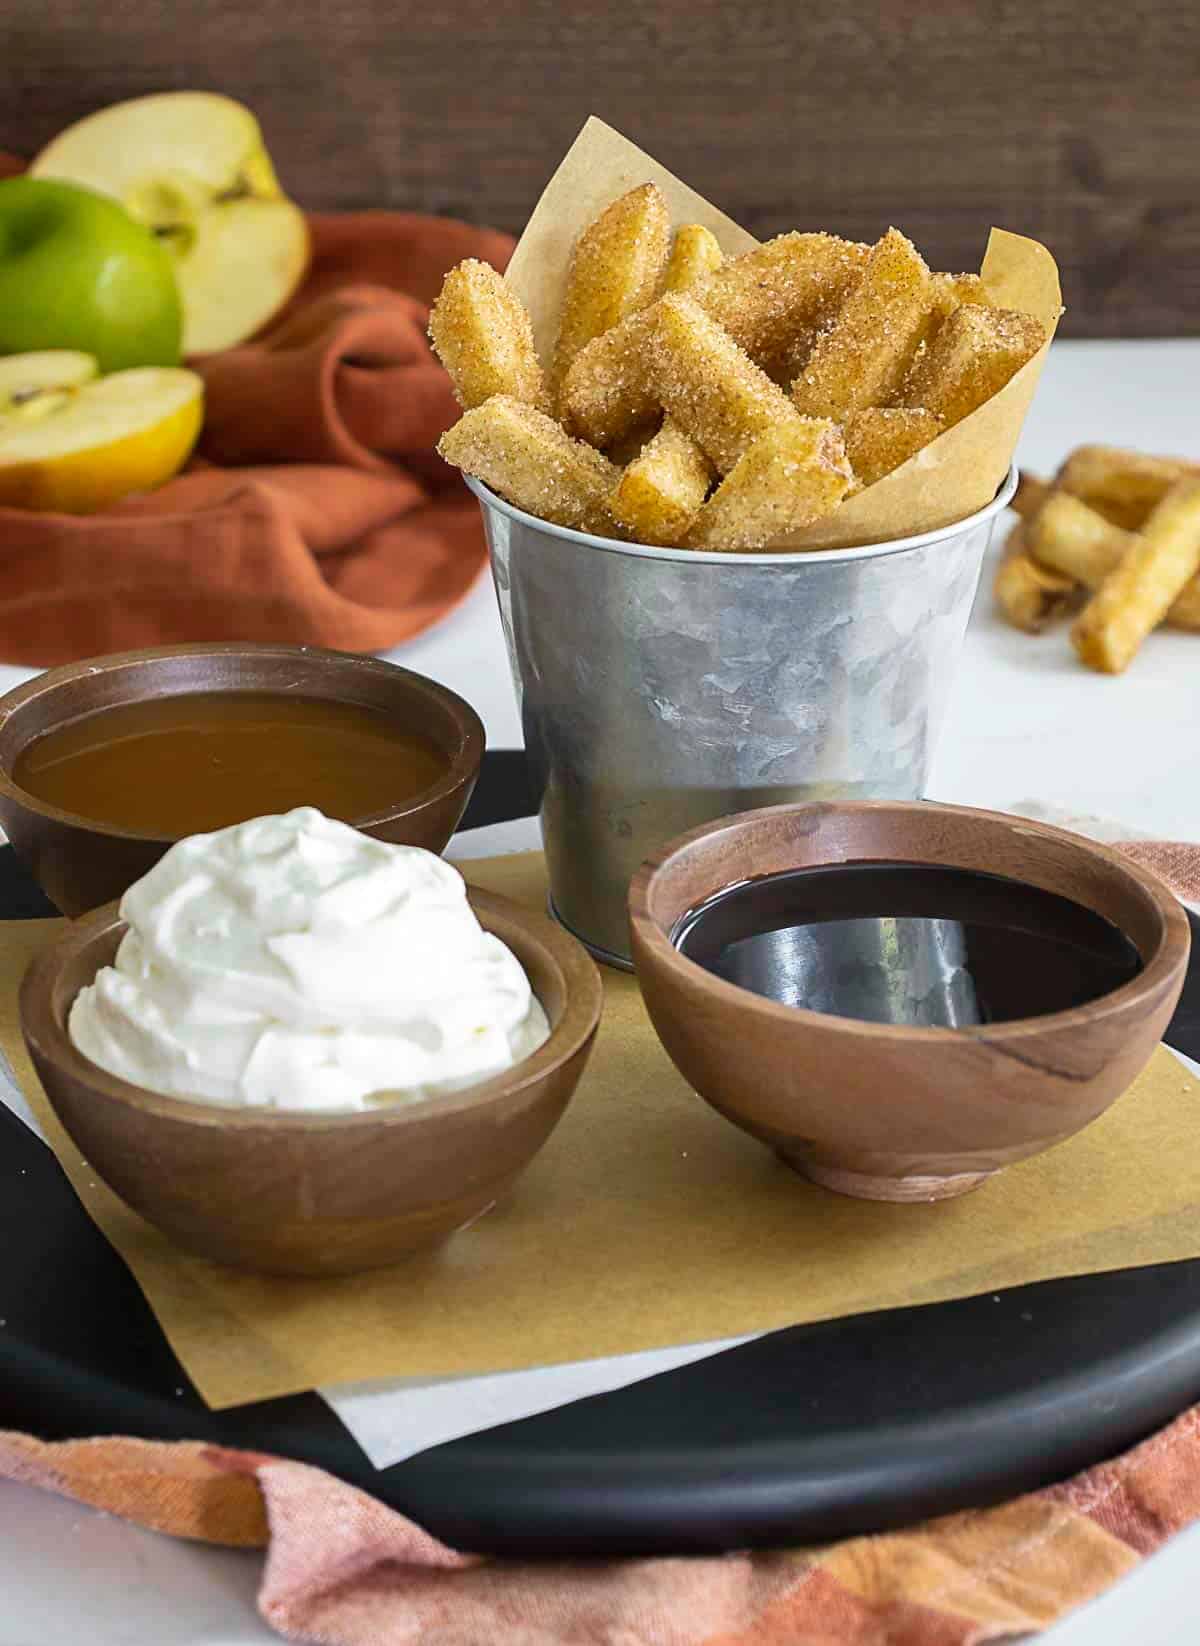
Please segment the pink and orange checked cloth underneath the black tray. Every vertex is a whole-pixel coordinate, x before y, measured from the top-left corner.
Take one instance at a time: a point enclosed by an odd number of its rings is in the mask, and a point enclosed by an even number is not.
[[[1200,844],[1119,846],[1200,899]],[[0,1476],[155,1531],[265,1547],[258,1605],[323,1646],[983,1646],[1049,1626],[1200,1519],[1200,1407],[999,1508],[815,1549],[505,1562],[286,1458],[0,1432]]]

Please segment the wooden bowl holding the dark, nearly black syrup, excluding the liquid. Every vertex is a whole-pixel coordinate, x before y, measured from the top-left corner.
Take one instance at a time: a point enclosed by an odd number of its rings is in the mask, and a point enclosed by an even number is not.
[[[670,942],[723,887],[859,859],[1030,882],[1111,920],[1142,971],[1072,1011],[966,1029],[859,1022],[713,976]],[[1146,1065],[1170,1021],[1187,917],[1156,876],[1063,830],[922,802],[784,805],[723,818],[650,858],[629,894],[634,965],[680,1073],[805,1177],[871,1200],[942,1200],[1080,1131]]]

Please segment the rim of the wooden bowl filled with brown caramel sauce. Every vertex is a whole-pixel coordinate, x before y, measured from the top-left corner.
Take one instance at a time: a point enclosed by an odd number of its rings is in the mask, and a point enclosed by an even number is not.
[[[403,807],[385,807],[380,811],[364,813],[351,821],[352,828],[367,830],[377,826],[379,823],[398,821],[400,818],[412,816],[415,811],[423,811],[426,807],[453,797],[463,788],[463,783],[472,782],[479,772],[487,742],[484,723],[476,709],[466,701],[466,698],[461,698],[458,691],[441,685],[438,680],[430,680],[428,675],[418,675],[415,670],[403,668],[400,663],[392,663],[382,657],[372,657],[360,652],[336,652],[331,647],[321,645],[290,645],[285,642],[242,644],[240,640],[199,640],[179,645],[148,645],[130,652],[105,652],[99,657],[84,657],[74,663],[61,663],[56,668],[43,670],[31,680],[23,680],[18,686],[12,686],[12,690],[0,695],[0,729],[3,729],[8,721],[15,719],[36,698],[46,693],[59,691],[63,686],[67,686],[76,680],[104,673],[107,668],[127,668],[138,663],[155,663],[176,657],[316,658],[318,663],[326,663],[326,667],[360,670],[377,677],[387,673],[387,678],[400,675],[415,696],[423,696],[426,700],[435,698],[458,724],[461,732],[461,742],[458,752],[449,759],[449,769],[443,777],[430,783],[428,788],[421,788]],[[188,693],[179,693],[179,696],[186,695]],[[94,713],[99,716],[104,709],[97,708]],[[21,744],[21,751],[25,747],[26,744]],[[28,788],[21,788],[21,785],[13,780],[13,775],[3,760],[0,760],[0,795],[36,816],[46,818],[53,823],[64,823],[71,828],[86,830],[91,835],[102,835],[105,839],[140,841],[153,846],[174,846],[178,841],[188,838],[186,835],[156,835],[150,830],[119,828],[112,823],[104,823],[100,818],[89,818],[82,811],[64,811],[61,807],[40,800],[38,795],[31,793]]]

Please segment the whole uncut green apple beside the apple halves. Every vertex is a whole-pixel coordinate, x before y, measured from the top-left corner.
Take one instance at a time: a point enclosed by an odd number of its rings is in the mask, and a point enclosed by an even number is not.
[[[170,253],[115,201],[71,183],[0,181],[0,354],[74,349],[102,372],[178,365]]]

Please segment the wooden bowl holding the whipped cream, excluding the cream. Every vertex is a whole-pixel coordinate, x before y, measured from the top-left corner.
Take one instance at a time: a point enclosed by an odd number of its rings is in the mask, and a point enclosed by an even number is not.
[[[66,1030],[71,1002],[125,932],[115,907],[71,923],[30,966],[25,1044],[84,1159],[179,1246],[270,1274],[380,1267],[444,1241],[509,1188],[566,1108],[599,1022],[599,973],[581,943],[504,897],[469,895],[523,965],[551,1034],[467,1091],[311,1114],[188,1103],[117,1080]]]

